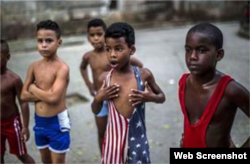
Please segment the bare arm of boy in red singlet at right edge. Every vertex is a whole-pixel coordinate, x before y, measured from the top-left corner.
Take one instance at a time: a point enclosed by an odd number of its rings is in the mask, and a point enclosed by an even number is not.
[[[240,108],[250,118],[250,93],[241,84],[232,81],[228,84],[227,95],[230,101]],[[250,148],[250,136],[242,147]]]

